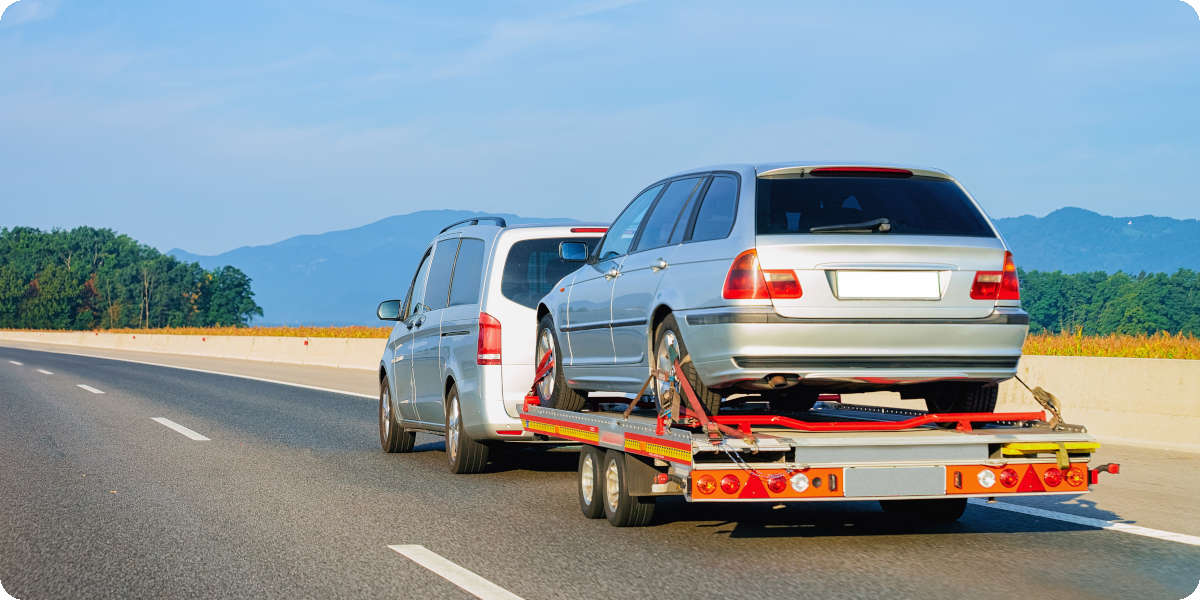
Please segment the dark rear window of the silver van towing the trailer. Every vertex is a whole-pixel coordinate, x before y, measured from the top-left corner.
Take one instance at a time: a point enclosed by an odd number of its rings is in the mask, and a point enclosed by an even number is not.
[[[566,263],[558,257],[562,241],[582,241],[588,253],[595,250],[600,238],[547,238],[523,240],[512,245],[504,260],[504,278],[500,293],[504,298],[533,308],[538,300],[558,283],[558,280],[580,268],[580,263]]]

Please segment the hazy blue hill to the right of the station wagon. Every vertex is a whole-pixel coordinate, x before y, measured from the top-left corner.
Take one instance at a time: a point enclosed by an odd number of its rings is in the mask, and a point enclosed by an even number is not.
[[[1110,217],[1068,206],[1044,217],[997,218],[1016,266],[1027,271],[1200,270],[1200,221]]]

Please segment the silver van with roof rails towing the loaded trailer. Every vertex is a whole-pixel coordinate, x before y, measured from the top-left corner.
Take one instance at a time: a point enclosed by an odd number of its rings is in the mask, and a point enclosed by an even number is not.
[[[492,444],[533,442],[518,408],[533,382],[535,307],[575,269],[559,244],[592,247],[594,226],[512,226],[499,217],[454,223],[430,242],[403,300],[379,304],[395,320],[379,360],[379,442],[413,449],[416,431],[444,433],[450,470],[484,470]]]

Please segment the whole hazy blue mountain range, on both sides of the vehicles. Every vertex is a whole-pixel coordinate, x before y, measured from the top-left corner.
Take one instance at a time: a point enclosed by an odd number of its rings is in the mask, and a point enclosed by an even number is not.
[[[168,253],[205,269],[234,265],[253,280],[258,324],[374,324],[379,300],[404,293],[420,252],[449,223],[484,212],[422,210],[373,223],[215,256]],[[494,214],[492,214],[494,215]],[[564,223],[500,214],[509,223]],[[1044,217],[996,218],[1018,266],[1040,271],[1136,274],[1200,269],[1200,221],[1111,217],[1064,208]]]

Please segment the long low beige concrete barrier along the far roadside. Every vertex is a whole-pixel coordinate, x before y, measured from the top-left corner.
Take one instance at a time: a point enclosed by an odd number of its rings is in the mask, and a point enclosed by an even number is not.
[[[188,354],[337,368],[378,368],[385,340],[337,337],[181,336],[95,331],[0,331],[0,341]],[[1020,377],[1063,403],[1068,422],[1103,442],[1200,452],[1200,360],[1024,356]],[[916,408],[898,395],[871,403]],[[1000,386],[997,410],[1037,410],[1015,380]]]

